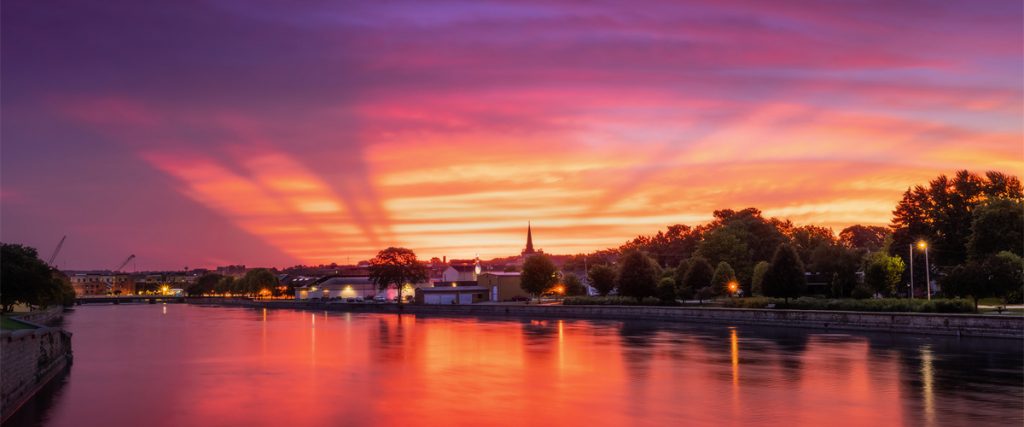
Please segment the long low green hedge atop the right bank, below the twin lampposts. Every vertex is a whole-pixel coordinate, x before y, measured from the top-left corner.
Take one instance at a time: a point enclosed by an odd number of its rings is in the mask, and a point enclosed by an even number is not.
[[[774,304],[774,305],[773,305]],[[884,312],[940,312],[965,313],[974,312],[974,305],[966,299],[825,299],[798,298],[788,303],[781,298],[738,298],[724,302],[726,307],[735,308],[775,308],[795,310],[835,310],[835,311],[884,311]]]

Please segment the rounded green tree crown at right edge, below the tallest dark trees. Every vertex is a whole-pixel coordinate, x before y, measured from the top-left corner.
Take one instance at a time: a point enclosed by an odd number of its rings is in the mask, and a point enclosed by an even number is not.
[[[972,216],[967,251],[976,260],[1001,251],[1024,256],[1024,203],[1000,198],[978,206]]]

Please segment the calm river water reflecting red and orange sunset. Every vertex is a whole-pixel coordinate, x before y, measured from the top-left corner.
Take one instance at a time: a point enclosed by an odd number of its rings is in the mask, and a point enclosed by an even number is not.
[[[1024,424],[1016,340],[184,304],[68,315],[12,426]]]

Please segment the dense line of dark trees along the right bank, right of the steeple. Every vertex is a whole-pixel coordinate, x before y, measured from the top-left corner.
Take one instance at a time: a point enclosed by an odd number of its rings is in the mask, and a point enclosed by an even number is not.
[[[959,171],[908,188],[888,227],[852,225],[835,234],[767,218],[756,208],[726,209],[715,211],[708,224],[671,225],[616,249],[578,255],[564,269],[581,270],[586,257],[593,265],[586,273],[600,294],[617,290],[665,301],[740,293],[797,297],[807,292],[808,273],[829,297],[896,297],[909,296],[912,245],[926,242],[929,264],[920,249],[912,257],[918,296],[928,292],[927,267],[946,296],[1019,302],[1022,200],[1015,176]]]

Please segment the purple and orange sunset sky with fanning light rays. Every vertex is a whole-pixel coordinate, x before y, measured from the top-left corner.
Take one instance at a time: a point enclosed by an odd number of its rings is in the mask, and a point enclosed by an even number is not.
[[[0,240],[142,270],[885,225],[1024,170],[1022,7],[8,0]]]

